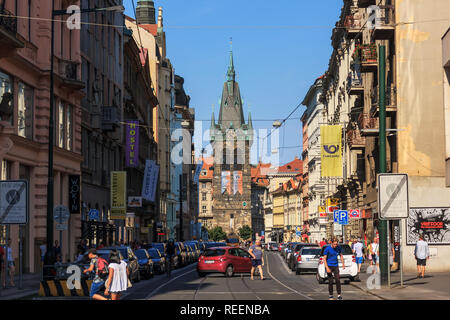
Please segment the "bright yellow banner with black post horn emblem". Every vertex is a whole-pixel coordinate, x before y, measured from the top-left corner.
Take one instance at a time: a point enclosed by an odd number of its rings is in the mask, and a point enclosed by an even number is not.
[[[320,126],[321,176],[342,177],[342,126]]]

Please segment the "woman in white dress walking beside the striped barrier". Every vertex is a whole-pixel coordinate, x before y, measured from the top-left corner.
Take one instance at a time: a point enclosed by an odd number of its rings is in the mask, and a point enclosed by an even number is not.
[[[119,251],[112,250],[109,254],[109,275],[106,280],[105,295],[111,293],[111,300],[119,300],[123,292],[128,288],[127,263],[120,260]]]

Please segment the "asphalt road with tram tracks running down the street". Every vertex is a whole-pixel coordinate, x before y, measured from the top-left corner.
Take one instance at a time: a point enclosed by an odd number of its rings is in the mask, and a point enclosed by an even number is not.
[[[222,274],[197,275],[196,264],[158,275],[133,285],[123,300],[328,300],[328,284],[319,284],[315,274],[296,275],[275,252],[265,253],[264,277],[249,274],[226,278]],[[335,292],[335,297],[337,296]],[[378,300],[342,281],[344,300]]]

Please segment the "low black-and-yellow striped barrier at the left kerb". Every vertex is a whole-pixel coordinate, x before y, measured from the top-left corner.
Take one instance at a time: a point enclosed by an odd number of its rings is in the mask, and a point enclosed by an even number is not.
[[[67,280],[41,281],[40,297],[89,297],[93,280],[80,280],[81,289],[69,289]]]

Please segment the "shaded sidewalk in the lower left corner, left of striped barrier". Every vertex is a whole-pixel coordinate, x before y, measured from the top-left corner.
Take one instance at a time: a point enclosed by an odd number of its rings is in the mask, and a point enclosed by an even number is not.
[[[19,276],[15,276],[15,287],[9,286],[9,278],[6,281],[6,289],[0,283],[0,300],[15,300],[31,295],[37,295],[41,281],[41,273],[26,273],[22,275],[22,289],[19,289]]]

